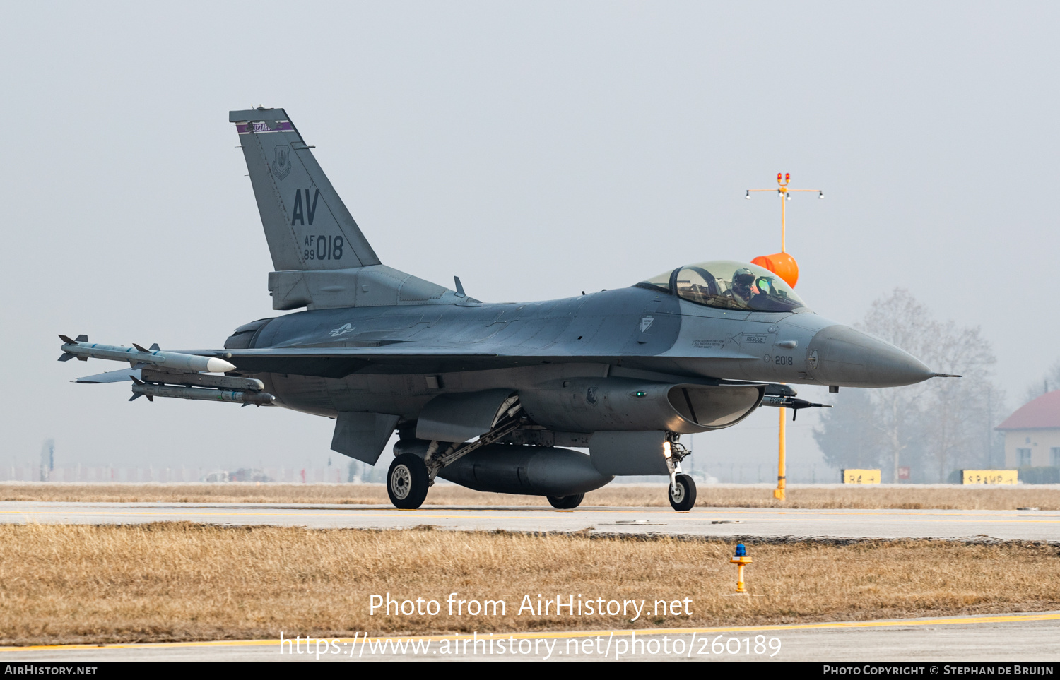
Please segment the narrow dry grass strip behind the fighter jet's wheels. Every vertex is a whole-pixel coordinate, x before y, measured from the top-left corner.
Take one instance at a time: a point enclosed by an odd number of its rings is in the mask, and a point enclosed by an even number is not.
[[[353,503],[389,504],[382,484],[61,484],[0,483],[6,501],[111,501],[178,503]],[[427,505],[548,505],[540,496],[482,494],[462,486],[438,485]],[[612,484],[585,496],[583,505],[666,506],[666,482]],[[764,486],[701,485],[697,506],[803,507],[859,509],[1060,509],[1060,488],[1037,485],[840,486],[805,485],[788,489],[788,500],[773,499]]]

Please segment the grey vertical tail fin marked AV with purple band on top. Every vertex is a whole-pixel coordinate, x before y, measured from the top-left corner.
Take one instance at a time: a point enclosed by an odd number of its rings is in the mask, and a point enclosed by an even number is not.
[[[353,269],[379,258],[283,109],[230,111],[277,271]]]

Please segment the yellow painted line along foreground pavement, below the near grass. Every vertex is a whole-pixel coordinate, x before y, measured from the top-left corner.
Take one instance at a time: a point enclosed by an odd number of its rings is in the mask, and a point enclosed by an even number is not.
[[[828,630],[842,628],[894,628],[901,626],[941,626],[941,625],[968,625],[968,624],[990,624],[990,623],[1020,623],[1034,621],[1060,621],[1060,613],[1049,612],[1040,614],[999,614],[993,616],[955,616],[946,619],[898,619],[886,621],[838,621],[830,623],[812,624],[777,624],[766,626],[725,626],[719,628],[658,628],[654,630],[569,630],[560,632],[511,632],[511,633],[481,633],[478,640],[538,640],[538,639],[566,639],[566,638],[596,638],[599,636],[706,636],[711,633],[726,632],[761,632],[768,630]],[[469,640],[472,636],[374,636],[371,640],[399,640],[399,641],[437,641],[445,640]],[[311,638],[311,640],[336,640],[334,638]],[[343,644],[364,643],[365,638],[338,638],[338,642]],[[295,642],[294,638],[285,638],[284,642]],[[111,643],[111,644],[77,644],[77,645],[28,645],[25,647],[0,647],[2,651],[42,651],[42,650],[72,650],[72,649],[142,649],[149,647],[264,647],[266,645],[279,645],[280,640],[213,640],[206,642],[147,642],[147,643]]]

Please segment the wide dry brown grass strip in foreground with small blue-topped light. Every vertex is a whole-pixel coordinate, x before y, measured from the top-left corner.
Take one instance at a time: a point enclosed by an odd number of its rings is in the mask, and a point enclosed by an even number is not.
[[[732,545],[585,535],[143,525],[0,525],[0,644],[652,628],[1056,609],[1056,545],[907,540]],[[457,600],[504,614],[448,615]],[[372,594],[438,614],[370,615]],[[564,601],[647,601],[647,615],[519,613]],[[579,596],[580,595],[580,596]],[[655,613],[685,601],[690,615]],[[683,603],[684,604],[684,603]],[[617,609],[617,605],[615,606]]]

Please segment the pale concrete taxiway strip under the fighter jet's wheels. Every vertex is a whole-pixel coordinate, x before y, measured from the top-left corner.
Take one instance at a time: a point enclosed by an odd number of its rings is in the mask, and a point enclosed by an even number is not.
[[[689,536],[834,538],[969,538],[1057,540],[1060,512],[930,509],[774,509],[697,507],[428,506],[253,503],[0,502],[0,522],[120,524],[189,521],[315,529],[403,529],[429,524],[458,531],[576,532]]]

